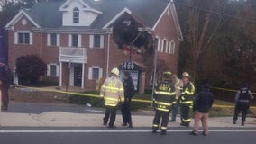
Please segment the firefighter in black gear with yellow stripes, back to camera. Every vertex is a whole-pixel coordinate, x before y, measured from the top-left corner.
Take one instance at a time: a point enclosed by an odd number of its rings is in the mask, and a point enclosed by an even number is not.
[[[162,82],[160,85],[157,85],[153,94],[153,106],[156,112],[153,120],[152,132],[157,133],[160,126],[161,135],[166,135],[169,112],[175,101],[175,86],[171,83],[171,75],[171,72],[163,73]],[[160,119],[162,119],[161,125]]]

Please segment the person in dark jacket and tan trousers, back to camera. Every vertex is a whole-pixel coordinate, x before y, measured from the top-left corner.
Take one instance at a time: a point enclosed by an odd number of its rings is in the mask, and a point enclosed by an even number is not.
[[[208,112],[210,111],[214,103],[214,94],[210,92],[210,86],[208,84],[203,85],[202,90],[197,94],[194,100],[193,111],[194,115],[194,128],[190,132],[191,135],[198,135],[199,121],[202,122],[203,135],[208,135]]]

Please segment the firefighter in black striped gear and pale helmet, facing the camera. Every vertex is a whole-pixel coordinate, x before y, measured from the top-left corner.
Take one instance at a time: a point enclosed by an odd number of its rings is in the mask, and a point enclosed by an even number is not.
[[[195,93],[195,87],[190,82],[190,76],[187,72],[182,73],[183,88],[180,95],[180,111],[181,111],[181,126],[189,127],[190,116],[189,112],[193,106],[193,99]]]

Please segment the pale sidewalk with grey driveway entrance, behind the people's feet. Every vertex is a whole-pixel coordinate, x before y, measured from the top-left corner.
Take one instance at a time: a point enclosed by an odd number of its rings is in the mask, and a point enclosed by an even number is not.
[[[151,113],[132,112],[133,127],[151,127]],[[21,127],[103,127],[104,110],[73,104],[48,103],[11,103],[10,112],[0,113],[1,126]],[[179,127],[180,119],[169,123],[169,127]],[[256,129],[256,119],[247,118],[245,126],[232,124],[232,117],[215,117],[209,119],[209,127],[253,128]],[[191,122],[191,125],[194,121]],[[116,117],[115,125],[121,127],[122,116]]]

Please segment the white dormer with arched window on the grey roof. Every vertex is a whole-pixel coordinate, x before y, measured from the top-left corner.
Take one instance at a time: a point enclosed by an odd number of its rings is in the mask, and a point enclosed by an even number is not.
[[[67,0],[59,7],[63,26],[90,26],[102,12],[91,8],[83,0]]]

